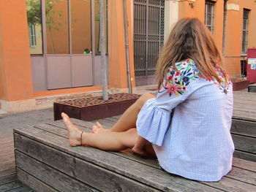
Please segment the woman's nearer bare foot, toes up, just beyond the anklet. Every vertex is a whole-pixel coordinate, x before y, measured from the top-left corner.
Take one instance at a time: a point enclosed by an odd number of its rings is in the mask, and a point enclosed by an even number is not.
[[[78,128],[74,126],[73,123],[71,123],[69,116],[67,116],[66,113],[61,112],[61,117],[63,118],[64,126],[67,128],[67,131],[69,132],[69,145],[70,146],[82,145],[80,141],[82,131],[80,131]]]

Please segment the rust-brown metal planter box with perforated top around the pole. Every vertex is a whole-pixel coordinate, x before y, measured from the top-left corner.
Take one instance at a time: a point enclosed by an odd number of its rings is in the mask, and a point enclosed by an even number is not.
[[[108,101],[102,96],[84,99],[73,99],[53,103],[54,120],[61,119],[61,112],[70,118],[80,120],[96,120],[121,115],[140,97],[138,94],[116,93],[109,95]]]

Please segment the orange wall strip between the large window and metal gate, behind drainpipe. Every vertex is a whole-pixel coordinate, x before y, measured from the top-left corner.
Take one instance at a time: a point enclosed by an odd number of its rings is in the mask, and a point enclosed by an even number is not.
[[[132,0],[127,1],[127,15],[129,18],[129,63],[131,66],[131,74],[134,79],[133,68],[133,51],[132,51],[132,23],[131,7]],[[108,1],[108,34],[109,34],[109,67],[110,67],[110,87],[127,88],[127,69],[125,55],[125,39],[124,39],[124,7],[123,1]],[[133,82],[134,83],[134,82]],[[134,84],[133,84],[134,85]]]

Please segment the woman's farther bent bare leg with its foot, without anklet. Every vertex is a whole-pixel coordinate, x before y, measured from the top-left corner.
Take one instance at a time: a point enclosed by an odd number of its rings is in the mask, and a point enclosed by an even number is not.
[[[116,124],[110,128],[105,129],[102,128],[102,125],[100,123],[95,123],[95,126],[92,127],[92,132],[95,134],[99,134],[101,132],[107,131],[107,132],[123,132],[129,130],[129,128],[135,128],[136,127],[136,120],[138,117],[138,113],[140,112],[143,105],[148,101],[148,99],[155,98],[156,96],[152,95],[151,93],[145,93],[140,98],[135,101],[134,104],[132,104],[124,113],[121,115],[121,118],[118,119]]]

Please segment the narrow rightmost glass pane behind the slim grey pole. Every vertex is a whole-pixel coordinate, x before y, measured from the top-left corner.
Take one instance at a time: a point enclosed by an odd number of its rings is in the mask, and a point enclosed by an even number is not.
[[[105,9],[105,53],[108,52],[108,1],[104,1]],[[99,44],[99,0],[94,0],[94,34],[95,34],[95,52],[100,53],[100,44]]]

